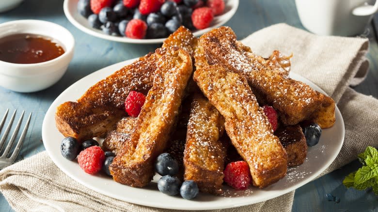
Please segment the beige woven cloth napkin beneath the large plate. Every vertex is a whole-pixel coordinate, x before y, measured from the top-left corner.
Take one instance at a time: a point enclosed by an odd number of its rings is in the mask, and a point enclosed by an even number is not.
[[[338,103],[345,121],[345,142],[323,174],[349,163],[366,146],[378,145],[378,100],[348,88],[361,82],[367,72],[367,39],[321,37],[278,24],[253,33],[243,42],[263,56],[275,49],[293,53],[292,71],[313,81]],[[0,181],[1,193],[16,211],[173,211],[130,204],[87,189],[56,167],[46,152],[1,170]],[[294,192],[290,192],[214,212],[289,212],[293,198]]]

